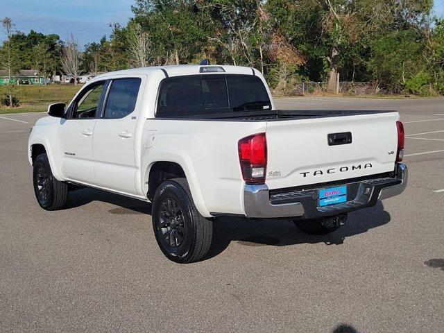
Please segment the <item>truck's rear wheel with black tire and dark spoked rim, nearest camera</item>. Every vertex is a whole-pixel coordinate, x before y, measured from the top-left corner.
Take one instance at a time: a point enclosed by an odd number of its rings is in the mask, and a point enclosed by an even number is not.
[[[213,223],[196,209],[186,178],[162,182],[151,217],[157,244],[173,262],[198,262],[210,250]]]

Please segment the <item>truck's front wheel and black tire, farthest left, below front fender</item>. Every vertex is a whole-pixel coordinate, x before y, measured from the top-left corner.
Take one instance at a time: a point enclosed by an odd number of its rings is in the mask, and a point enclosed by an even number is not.
[[[61,210],[68,201],[68,184],[54,178],[48,156],[42,153],[33,163],[33,185],[37,203],[44,210]]]

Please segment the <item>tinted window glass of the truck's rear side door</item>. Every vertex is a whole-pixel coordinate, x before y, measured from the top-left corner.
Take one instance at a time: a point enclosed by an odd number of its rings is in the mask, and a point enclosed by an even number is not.
[[[133,113],[137,94],[139,93],[140,78],[122,78],[113,80],[108,99],[105,104],[104,119],[119,119]]]

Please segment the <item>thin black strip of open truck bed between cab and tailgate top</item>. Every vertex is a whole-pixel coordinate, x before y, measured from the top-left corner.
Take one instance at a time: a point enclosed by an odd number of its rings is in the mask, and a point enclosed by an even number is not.
[[[155,119],[203,120],[203,121],[284,121],[330,117],[382,114],[393,111],[382,110],[257,110],[248,112],[227,112],[214,114],[184,114],[180,117],[156,117]]]

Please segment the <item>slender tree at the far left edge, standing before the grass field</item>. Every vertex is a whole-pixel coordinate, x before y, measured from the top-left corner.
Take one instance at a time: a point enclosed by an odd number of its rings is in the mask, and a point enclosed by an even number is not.
[[[8,71],[8,97],[9,97],[9,105],[10,107],[14,106],[14,103],[12,103],[12,76],[16,74],[18,67],[18,51],[17,47],[14,43],[11,41],[11,35],[12,35],[12,28],[14,28],[14,24],[12,24],[12,21],[9,17],[5,17],[1,20],[1,24],[3,25],[3,28],[5,29],[6,33],[6,40],[3,42],[3,57],[2,57],[2,64],[3,67],[6,68]],[[2,52],[2,53],[3,53]]]

